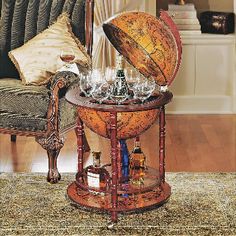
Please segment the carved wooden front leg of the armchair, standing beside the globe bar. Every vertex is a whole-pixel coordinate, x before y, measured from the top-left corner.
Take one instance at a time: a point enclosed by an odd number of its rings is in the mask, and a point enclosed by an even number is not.
[[[47,181],[57,183],[61,179],[61,175],[57,169],[57,157],[64,145],[64,140],[57,135],[52,134],[48,138],[36,138],[36,141],[47,150],[48,154],[48,175]]]

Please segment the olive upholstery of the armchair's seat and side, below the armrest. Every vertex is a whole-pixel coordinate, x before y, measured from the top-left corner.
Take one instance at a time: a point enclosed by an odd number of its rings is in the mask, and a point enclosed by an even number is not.
[[[50,91],[45,86],[25,86],[20,80],[0,80],[0,128],[20,131],[46,131]],[[76,122],[76,107],[65,97],[59,100],[59,129]]]

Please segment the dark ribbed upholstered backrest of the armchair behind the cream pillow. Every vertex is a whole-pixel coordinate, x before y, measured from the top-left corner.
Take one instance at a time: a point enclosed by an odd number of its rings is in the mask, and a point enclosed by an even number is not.
[[[56,21],[70,15],[73,32],[85,44],[85,0],[0,0],[0,78],[19,78],[8,52],[22,46]]]

